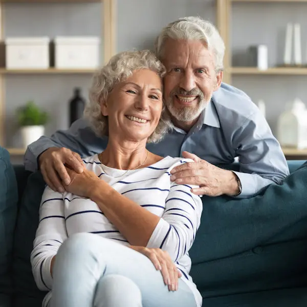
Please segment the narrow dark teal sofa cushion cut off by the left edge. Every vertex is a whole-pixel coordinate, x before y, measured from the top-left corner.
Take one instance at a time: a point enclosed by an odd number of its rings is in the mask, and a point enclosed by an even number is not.
[[[0,147],[0,306],[10,306],[12,243],[17,214],[17,183],[10,156]]]

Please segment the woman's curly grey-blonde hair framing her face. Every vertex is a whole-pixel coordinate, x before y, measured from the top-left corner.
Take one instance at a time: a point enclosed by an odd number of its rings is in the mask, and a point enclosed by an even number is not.
[[[150,69],[160,78],[165,74],[165,67],[156,55],[149,50],[143,50],[118,53],[94,75],[90,88],[90,102],[85,107],[84,116],[90,120],[97,135],[108,136],[108,118],[101,114],[101,101],[107,99],[115,84],[124,81],[134,71],[140,69]],[[148,137],[147,143],[159,142],[170,127],[169,122],[169,116],[163,103],[160,121],[155,131]]]

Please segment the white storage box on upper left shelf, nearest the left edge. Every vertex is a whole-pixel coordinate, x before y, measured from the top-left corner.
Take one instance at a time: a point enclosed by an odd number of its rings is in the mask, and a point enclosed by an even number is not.
[[[7,69],[48,69],[48,37],[9,37],[6,43]]]

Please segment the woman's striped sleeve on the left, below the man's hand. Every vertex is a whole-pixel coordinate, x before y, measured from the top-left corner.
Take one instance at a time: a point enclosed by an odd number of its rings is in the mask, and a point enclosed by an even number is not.
[[[39,224],[31,253],[34,279],[42,291],[52,289],[52,263],[65,239],[67,231],[62,194],[46,187],[41,199]]]

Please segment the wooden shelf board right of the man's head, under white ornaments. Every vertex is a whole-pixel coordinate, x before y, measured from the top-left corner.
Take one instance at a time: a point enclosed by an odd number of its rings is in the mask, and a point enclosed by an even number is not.
[[[233,75],[307,75],[307,68],[297,67],[276,67],[264,71],[254,67],[232,67],[227,71]]]

